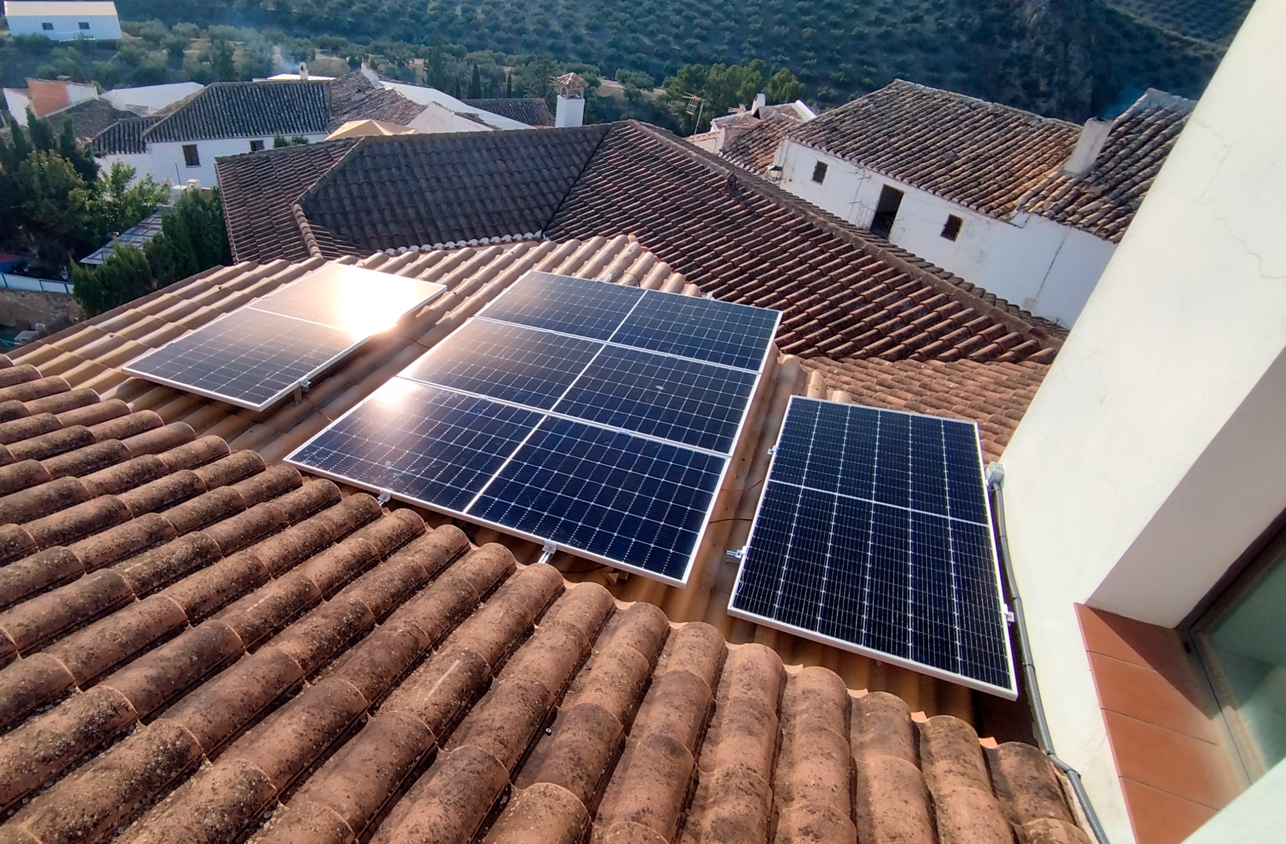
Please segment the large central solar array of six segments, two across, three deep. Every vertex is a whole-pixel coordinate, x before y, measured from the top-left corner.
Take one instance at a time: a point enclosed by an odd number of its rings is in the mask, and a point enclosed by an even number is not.
[[[287,461],[683,584],[778,320],[529,273]]]

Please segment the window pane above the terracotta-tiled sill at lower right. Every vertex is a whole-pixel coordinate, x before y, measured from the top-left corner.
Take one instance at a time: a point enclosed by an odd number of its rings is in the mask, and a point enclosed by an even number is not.
[[[1192,625],[1251,780],[1286,759],[1286,531]]]

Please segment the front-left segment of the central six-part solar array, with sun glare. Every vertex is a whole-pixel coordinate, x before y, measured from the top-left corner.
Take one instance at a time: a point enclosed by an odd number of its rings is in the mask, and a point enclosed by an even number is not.
[[[540,418],[534,410],[394,378],[287,459],[460,511]]]

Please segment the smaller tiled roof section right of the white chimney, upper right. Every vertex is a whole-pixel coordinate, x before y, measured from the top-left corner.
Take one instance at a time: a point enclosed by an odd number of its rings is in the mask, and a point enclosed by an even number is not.
[[[1120,242],[1193,106],[1148,89],[1112,121],[1089,172],[1082,178],[1051,174],[1022,202],[1022,210]]]

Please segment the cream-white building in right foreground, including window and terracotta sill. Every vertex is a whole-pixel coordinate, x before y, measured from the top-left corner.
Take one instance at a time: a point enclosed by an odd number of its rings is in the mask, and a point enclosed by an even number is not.
[[[1286,825],[1283,37],[1256,4],[1002,458],[1051,735],[1114,844]]]

